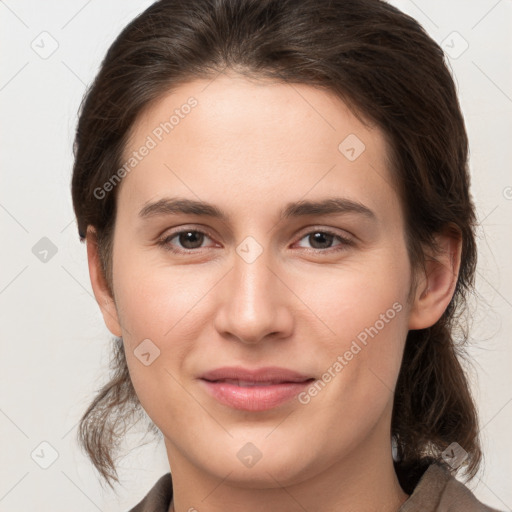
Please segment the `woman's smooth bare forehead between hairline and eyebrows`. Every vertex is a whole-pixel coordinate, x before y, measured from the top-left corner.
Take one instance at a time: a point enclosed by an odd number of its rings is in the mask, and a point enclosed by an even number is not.
[[[381,130],[332,92],[221,74],[183,84],[142,112],[123,155],[136,161],[126,166],[120,201],[141,206],[172,192],[247,206],[336,190],[385,211],[397,200],[387,155]]]

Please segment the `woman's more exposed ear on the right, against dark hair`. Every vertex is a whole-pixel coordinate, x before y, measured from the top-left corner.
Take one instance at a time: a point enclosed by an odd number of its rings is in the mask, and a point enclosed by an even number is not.
[[[462,234],[457,228],[447,229],[435,238],[439,251],[427,255],[426,273],[422,273],[410,310],[409,329],[434,325],[448,307],[457,285]]]

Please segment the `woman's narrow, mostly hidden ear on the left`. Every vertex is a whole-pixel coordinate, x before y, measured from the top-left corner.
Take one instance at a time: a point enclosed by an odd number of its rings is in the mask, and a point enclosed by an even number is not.
[[[98,252],[96,230],[92,226],[87,227],[87,260],[89,262],[89,277],[96,302],[98,303],[103,320],[108,330],[114,336],[122,336],[121,324],[117,315],[117,308],[114,298],[110,294],[107,281],[101,267],[101,260]]]

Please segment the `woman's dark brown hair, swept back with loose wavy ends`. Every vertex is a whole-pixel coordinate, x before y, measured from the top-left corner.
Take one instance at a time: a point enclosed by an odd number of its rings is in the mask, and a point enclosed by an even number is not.
[[[442,462],[441,453],[454,441],[468,453],[465,469],[472,478],[482,456],[478,420],[460,363],[467,334],[463,328],[458,340],[455,335],[473,291],[477,257],[467,134],[441,48],[413,18],[384,1],[160,0],[122,31],[82,102],[72,178],[80,239],[94,226],[112,296],[117,188],[101,199],[95,190],[121,167],[130,129],[144,109],[179,85],[224,69],[324,88],[363,122],[382,129],[413,270],[424,268],[425,248],[435,250],[436,233],[450,228],[461,236],[450,304],[435,325],[407,335],[391,434],[406,492],[429,463]],[[111,486],[119,481],[112,456],[127,418],[140,410],[120,341],[112,378],[78,431],[79,443]],[[149,429],[159,432],[151,421]]]

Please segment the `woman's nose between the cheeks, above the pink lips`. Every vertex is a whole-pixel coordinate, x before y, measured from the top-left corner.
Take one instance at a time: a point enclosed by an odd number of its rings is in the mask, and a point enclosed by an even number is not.
[[[217,332],[247,345],[290,336],[293,293],[279,274],[266,250],[252,262],[236,254],[233,268],[219,283],[222,298],[215,316]]]

